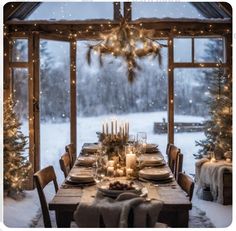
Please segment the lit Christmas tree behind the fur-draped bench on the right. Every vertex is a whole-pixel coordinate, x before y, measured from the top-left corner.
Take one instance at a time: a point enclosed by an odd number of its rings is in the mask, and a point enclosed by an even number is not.
[[[225,152],[232,150],[232,75],[224,72],[220,63],[218,69],[208,73],[210,94],[206,104],[210,117],[204,127],[206,139],[196,142],[201,147],[195,155],[198,158],[207,151],[214,151],[216,158],[220,159]]]

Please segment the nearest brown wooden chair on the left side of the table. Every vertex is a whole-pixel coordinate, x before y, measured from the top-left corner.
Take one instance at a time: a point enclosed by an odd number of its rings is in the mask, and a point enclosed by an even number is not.
[[[36,172],[34,174],[34,182],[39,194],[39,200],[43,212],[44,226],[46,228],[51,228],[52,224],[48,211],[48,204],[43,189],[48,183],[53,182],[55,192],[58,190],[57,178],[53,166],[48,166]]]

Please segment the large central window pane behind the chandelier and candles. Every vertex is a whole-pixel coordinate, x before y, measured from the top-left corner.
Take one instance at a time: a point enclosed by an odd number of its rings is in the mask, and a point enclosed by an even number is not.
[[[159,41],[167,44],[166,40]],[[158,143],[162,152],[167,134],[154,134],[154,122],[167,121],[167,48],[162,48],[163,66],[148,56],[137,60],[141,70],[132,85],[128,83],[126,63],[121,58],[97,54],[91,65],[85,61],[89,41],[77,42],[77,145],[97,142],[105,120],[129,121],[130,134],[147,132],[148,142]]]

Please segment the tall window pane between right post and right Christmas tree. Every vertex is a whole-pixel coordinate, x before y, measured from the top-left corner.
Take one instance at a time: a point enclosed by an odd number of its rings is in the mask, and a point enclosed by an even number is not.
[[[177,68],[174,71],[174,105],[175,105],[175,144],[184,154],[183,170],[188,174],[195,173],[195,159],[199,146],[195,141],[205,138],[203,129],[195,132],[178,123],[188,123],[194,129],[209,116],[207,99],[209,97],[210,77],[216,69],[211,68]]]

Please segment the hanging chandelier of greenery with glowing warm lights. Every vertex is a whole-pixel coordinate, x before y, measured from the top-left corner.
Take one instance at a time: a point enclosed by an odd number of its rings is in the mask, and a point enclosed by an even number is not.
[[[132,83],[137,70],[141,67],[137,64],[137,58],[152,55],[158,58],[161,65],[160,53],[162,45],[150,38],[150,32],[136,26],[129,25],[122,19],[118,27],[113,28],[108,34],[101,34],[101,42],[90,45],[87,52],[87,62],[91,64],[91,52],[96,51],[99,55],[100,65],[103,65],[102,56],[111,54],[114,57],[122,57],[127,63],[128,81]]]

